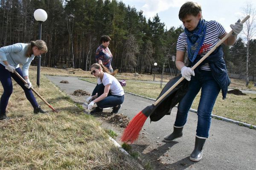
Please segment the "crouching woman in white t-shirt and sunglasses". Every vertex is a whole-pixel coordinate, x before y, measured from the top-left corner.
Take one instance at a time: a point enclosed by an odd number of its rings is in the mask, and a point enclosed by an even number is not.
[[[97,63],[91,65],[90,70],[92,71],[92,75],[98,77],[98,84],[93,90],[93,96],[86,99],[86,102],[90,102],[88,109],[92,109],[95,103],[97,105],[90,113],[98,113],[101,112],[103,108],[110,107],[113,107],[111,113],[118,113],[121,104],[124,102],[125,93],[118,80],[113,77],[113,75],[117,73],[117,70],[110,73],[108,68]]]

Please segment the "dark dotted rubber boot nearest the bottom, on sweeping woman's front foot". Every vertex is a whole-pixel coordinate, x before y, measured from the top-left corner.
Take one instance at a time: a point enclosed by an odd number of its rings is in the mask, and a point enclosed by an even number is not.
[[[191,161],[197,162],[202,159],[203,147],[204,147],[205,141],[206,141],[206,138],[195,136],[195,149],[193,150],[189,158]]]

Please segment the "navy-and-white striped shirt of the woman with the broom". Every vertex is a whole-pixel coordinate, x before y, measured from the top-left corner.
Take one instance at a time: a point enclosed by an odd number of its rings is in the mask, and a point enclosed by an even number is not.
[[[217,21],[206,21],[206,34],[204,38],[204,42],[198,54],[204,56],[208,51],[211,50],[214,45],[220,41],[219,37],[223,36],[226,33],[224,27],[218,23]],[[187,50],[187,36],[186,33],[183,32],[180,34],[177,40],[177,51],[186,51]],[[201,66],[202,70],[210,71],[209,63],[205,63],[205,65]]]

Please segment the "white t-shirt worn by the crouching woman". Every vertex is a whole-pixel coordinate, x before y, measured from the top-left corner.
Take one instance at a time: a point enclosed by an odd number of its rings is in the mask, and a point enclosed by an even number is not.
[[[109,91],[111,92],[112,95],[122,96],[125,94],[124,89],[122,88],[119,81],[115,77],[113,77],[111,74],[104,73],[102,82],[98,77],[98,84],[101,84],[101,83],[103,83],[104,86],[111,84]]]

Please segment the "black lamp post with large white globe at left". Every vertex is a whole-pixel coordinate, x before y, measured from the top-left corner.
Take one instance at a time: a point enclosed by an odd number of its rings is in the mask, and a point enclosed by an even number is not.
[[[34,12],[35,20],[39,22],[39,37],[38,40],[41,40],[41,32],[42,32],[42,23],[47,20],[47,13],[43,9],[37,9]],[[38,87],[40,86],[40,66],[41,66],[41,55],[38,56],[38,68],[37,68],[37,77],[36,84]]]

